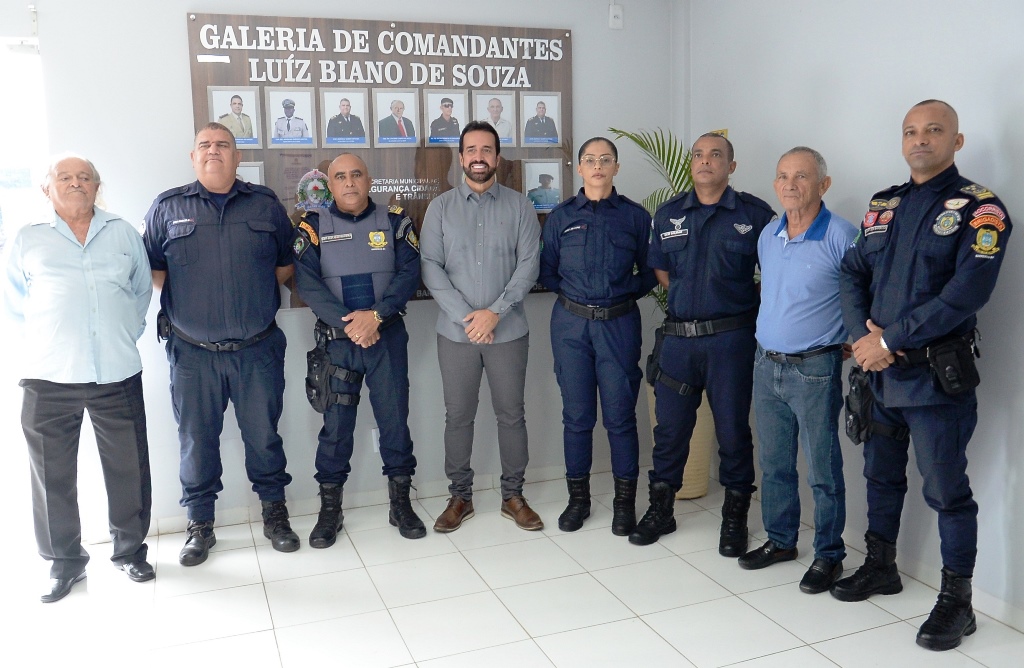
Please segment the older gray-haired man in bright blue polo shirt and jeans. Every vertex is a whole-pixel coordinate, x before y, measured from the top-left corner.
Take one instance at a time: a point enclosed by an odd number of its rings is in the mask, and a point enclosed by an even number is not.
[[[761,309],[754,411],[761,462],[761,514],[768,541],[739,557],[748,570],[797,558],[800,492],[797,436],[814,494],[814,562],[801,591],[826,591],[843,574],[846,484],[839,445],[843,405],[840,263],[856,228],[825,208],[825,160],[807,147],[782,155],[775,194],[785,210],[758,239]]]

